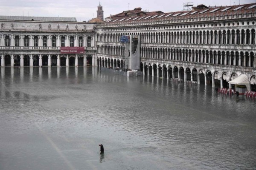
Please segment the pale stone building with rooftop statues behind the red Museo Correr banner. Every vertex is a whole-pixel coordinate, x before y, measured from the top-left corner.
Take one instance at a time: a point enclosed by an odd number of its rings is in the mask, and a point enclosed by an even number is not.
[[[95,26],[64,17],[0,16],[1,66],[86,66],[96,57]],[[62,53],[61,47],[84,47]]]

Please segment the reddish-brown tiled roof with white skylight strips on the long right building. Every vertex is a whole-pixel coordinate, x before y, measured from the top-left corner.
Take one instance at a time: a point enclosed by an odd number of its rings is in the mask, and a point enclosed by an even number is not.
[[[193,7],[192,11],[176,11],[176,12],[168,12],[163,13],[162,11],[153,11],[153,12],[145,12],[140,11],[141,8],[135,8],[134,10],[124,11],[122,13],[113,15],[111,17],[107,17],[107,20],[111,20],[108,23],[119,22],[134,22],[143,17],[141,20],[161,20],[163,18],[171,18],[171,17],[180,17],[180,18],[188,18],[188,17],[203,17],[203,16],[223,16],[224,14],[240,14],[240,13],[256,13],[256,3],[251,4],[242,4],[236,6],[218,6],[218,7],[207,7],[204,5],[199,5]],[[156,17],[153,17],[157,15]],[[163,15],[162,17],[160,17]],[[152,16],[152,17],[150,17]],[[138,18],[137,18],[138,17]],[[125,20],[131,18],[129,20]]]

